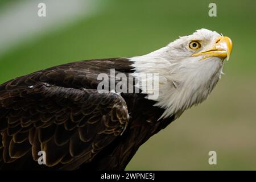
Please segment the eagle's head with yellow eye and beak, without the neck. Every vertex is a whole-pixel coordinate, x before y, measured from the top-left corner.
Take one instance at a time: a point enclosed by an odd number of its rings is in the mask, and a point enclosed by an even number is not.
[[[172,58],[189,61],[199,60],[229,60],[232,51],[232,41],[216,31],[205,28],[197,30],[192,35],[182,36],[167,47]],[[196,62],[195,62],[196,63]]]

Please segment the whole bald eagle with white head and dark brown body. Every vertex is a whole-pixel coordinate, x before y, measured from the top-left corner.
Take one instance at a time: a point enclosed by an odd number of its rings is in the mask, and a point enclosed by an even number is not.
[[[230,38],[200,29],[147,55],[78,61],[1,84],[0,168],[125,169],[152,135],[209,96],[231,51]],[[111,69],[134,78],[127,92],[99,92],[98,75],[113,78]],[[139,87],[148,79],[157,88]]]

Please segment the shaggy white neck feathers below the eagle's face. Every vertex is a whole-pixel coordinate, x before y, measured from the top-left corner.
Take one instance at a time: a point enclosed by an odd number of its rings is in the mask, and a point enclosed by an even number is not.
[[[137,77],[139,73],[159,74],[159,97],[155,99],[155,106],[165,109],[160,118],[174,114],[179,117],[184,110],[207,99],[222,69],[222,62],[217,57],[207,60],[172,57],[168,46],[130,58],[134,62],[133,76]],[[142,81],[146,80],[140,80],[140,84]]]

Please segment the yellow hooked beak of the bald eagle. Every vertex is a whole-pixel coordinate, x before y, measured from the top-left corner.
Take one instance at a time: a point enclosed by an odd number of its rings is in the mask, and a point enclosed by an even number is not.
[[[216,39],[212,48],[204,52],[194,53],[192,56],[205,55],[203,59],[214,56],[229,60],[231,52],[232,40],[228,36],[220,36]]]

